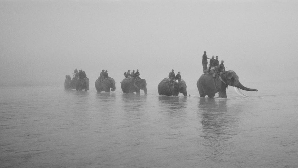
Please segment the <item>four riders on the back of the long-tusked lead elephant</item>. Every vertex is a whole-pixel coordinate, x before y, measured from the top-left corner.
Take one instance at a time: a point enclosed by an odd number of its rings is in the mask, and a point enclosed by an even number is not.
[[[207,67],[208,65],[207,59],[210,59],[209,68]],[[221,60],[221,64],[219,64],[218,56],[216,56],[215,59],[214,59],[214,55],[212,56],[212,58],[208,58],[206,55],[206,51],[204,51],[204,54],[203,54],[202,65],[203,65],[204,73],[218,74],[220,72],[225,71],[224,60]],[[215,75],[213,76],[215,77]]]

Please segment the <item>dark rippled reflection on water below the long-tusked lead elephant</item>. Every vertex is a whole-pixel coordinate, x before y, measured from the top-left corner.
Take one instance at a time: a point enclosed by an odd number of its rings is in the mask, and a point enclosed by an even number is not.
[[[198,114],[202,124],[201,137],[204,139],[206,157],[228,157],[233,151],[229,140],[239,133],[237,112],[229,111],[228,99],[200,98]]]

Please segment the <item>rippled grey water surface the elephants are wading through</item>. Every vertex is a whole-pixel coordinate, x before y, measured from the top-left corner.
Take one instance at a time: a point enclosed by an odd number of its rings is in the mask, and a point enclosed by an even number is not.
[[[63,89],[0,88],[0,167],[297,167],[292,91],[205,99]]]

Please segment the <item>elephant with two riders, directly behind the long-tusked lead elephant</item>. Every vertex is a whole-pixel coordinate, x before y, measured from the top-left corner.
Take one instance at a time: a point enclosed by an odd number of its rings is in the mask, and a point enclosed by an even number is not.
[[[159,82],[157,89],[159,95],[178,96],[179,93],[182,93],[184,96],[187,96],[186,83],[184,80],[175,83],[169,78],[164,78]]]

